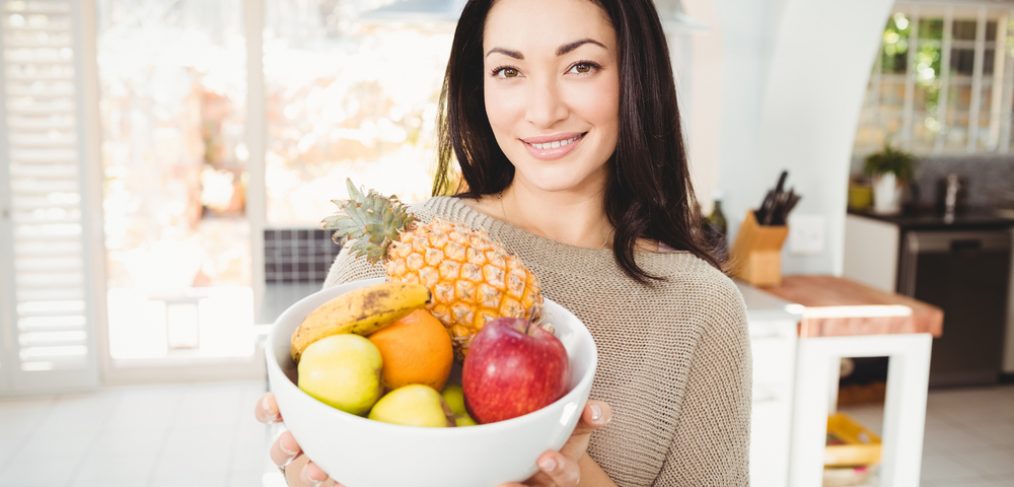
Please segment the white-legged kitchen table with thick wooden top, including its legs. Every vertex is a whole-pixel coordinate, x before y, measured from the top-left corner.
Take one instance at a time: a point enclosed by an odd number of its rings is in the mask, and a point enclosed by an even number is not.
[[[788,485],[820,485],[827,413],[843,357],[888,357],[880,481],[919,485],[930,349],[943,312],[832,276],[784,276],[764,292],[801,314],[796,348]]]

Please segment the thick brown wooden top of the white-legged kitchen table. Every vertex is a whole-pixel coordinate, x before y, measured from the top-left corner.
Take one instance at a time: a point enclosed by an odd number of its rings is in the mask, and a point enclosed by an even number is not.
[[[764,291],[801,305],[800,337],[943,334],[937,306],[835,276],[784,276]]]

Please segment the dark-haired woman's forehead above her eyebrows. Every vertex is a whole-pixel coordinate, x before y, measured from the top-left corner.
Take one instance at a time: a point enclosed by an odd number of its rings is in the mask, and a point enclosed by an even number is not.
[[[522,52],[556,50],[585,38],[610,48],[615,45],[608,14],[592,0],[496,0],[483,30],[484,49],[501,47]]]

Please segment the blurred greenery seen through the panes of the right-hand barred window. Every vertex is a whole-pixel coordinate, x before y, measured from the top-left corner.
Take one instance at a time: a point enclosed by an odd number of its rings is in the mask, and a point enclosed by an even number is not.
[[[879,56],[871,71],[867,97],[857,131],[854,153],[865,155],[878,150],[884,142],[901,143],[916,153],[967,153],[969,116],[973,103],[974,53],[977,21],[974,14],[955,13],[949,25],[944,18],[925,17],[895,11],[888,18],[882,36]],[[1005,39],[998,38],[999,22],[1008,22]],[[950,29],[949,63],[944,66],[945,29]],[[915,29],[915,36],[913,36]],[[974,152],[998,152],[998,128],[1012,116],[1010,107],[1000,113],[993,110],[994,93],[1010,80],[1005,73],[994,73],[998,44],[1005,64],[1014,56],[1014,21],[1006,12],[991,11],[985,22],[982,83],[979,93],[979,137]],[[910,66],[910,62],[912,66]],[[911,73],[910,73],[911,70]],[[946,70],[946,72],[945,72]],[[913,79],[912,132],[904,133],[907,80]],[[947,93],[943,96],[944,78]],[[998,82],[995,87],[994,83]],[[941,111],[941,103],[946,106]],[[941,112],[945,114],[941,117]],[[994,118],[997,118],[994,123]],[[939,144],[938,144],[939,141]],[[942,146],[942,150],[941,150]]]

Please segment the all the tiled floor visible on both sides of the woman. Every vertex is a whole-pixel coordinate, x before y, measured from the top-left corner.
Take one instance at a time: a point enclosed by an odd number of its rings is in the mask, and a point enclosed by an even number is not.
[[[0,400],[0,486],[261,486],[263,391],[254,380]],[[848,412],[879,430],[879,408]],[[932,392],[923,459],[923,486],[1014,486],[1014,386]]]

